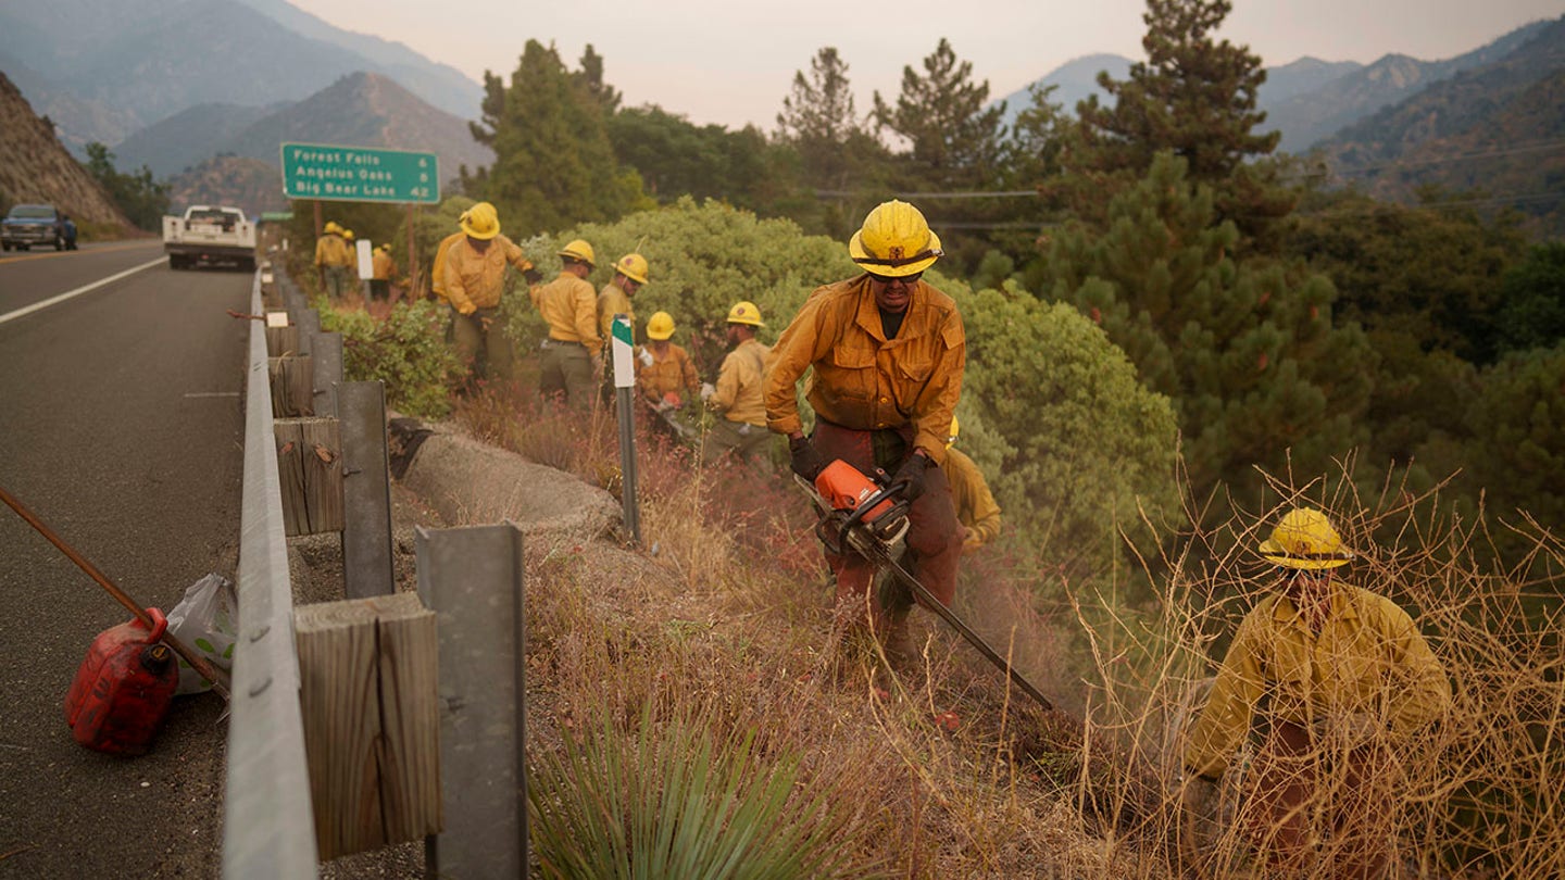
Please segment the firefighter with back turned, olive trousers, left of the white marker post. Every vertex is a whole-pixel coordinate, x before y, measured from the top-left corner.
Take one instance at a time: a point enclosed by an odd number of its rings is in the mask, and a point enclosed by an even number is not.
[[[598,296],[587,276],[596,258],[581,238],[560,249],[560,274],[532,288],[532,304],[549,326],[538,359],[538,393],[577,412],[592,409],[595,374],[603,370]]]

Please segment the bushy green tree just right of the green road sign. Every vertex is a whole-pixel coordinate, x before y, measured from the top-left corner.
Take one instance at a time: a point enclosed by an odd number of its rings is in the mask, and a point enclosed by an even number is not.
[[[648,205],[640,177],[615,160],[607,94],[601,78],[567,70],[554,47],[529,39],[509,86],[484,75],[484,117],[470,125],[495,150],[495,164],[463,175],[463,189],[493,202],[516,236],[612,221]]]

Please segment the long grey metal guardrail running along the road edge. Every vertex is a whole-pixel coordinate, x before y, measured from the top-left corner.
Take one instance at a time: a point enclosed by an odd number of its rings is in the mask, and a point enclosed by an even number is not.
[[[263,312],[264,271],[255,272],[250,290],[254,315]],[[239,640],[233,648],[222,820],[225,880],[319,877],[266,357],[266,329],[250,321]]]

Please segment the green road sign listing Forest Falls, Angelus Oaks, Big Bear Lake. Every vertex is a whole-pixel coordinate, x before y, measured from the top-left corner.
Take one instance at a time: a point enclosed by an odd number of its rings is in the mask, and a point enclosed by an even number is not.
[[[338,202],[440,200],[435,153],[283,144],[283,196]]]

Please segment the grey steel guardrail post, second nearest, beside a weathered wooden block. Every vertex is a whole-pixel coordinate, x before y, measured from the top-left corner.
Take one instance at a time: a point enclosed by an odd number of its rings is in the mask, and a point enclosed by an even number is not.
[[[347,598],[388,595],[396,590],[396,573],[385,387],[341,382],[335,396],[343,431],[344,589]]]

